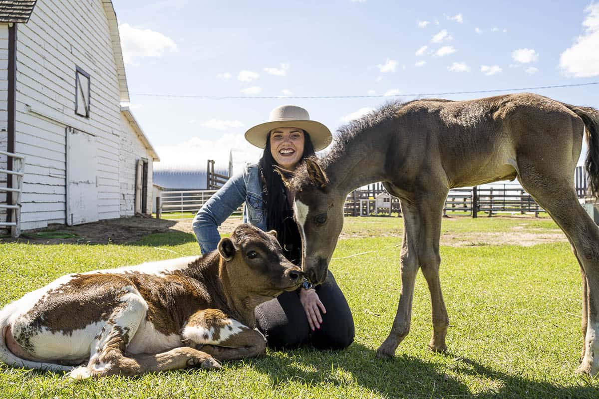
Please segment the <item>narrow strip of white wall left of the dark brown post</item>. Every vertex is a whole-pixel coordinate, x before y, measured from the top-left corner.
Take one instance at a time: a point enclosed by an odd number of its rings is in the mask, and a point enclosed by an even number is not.
[[[7,150],[8,144],[8,24],[0,23],[0,151]],[[0,169],[6,169],[6,156],[0,154]],[[0,173],[0,187],[6,187],[7,176]],[[6,203],[6,193],[0,192],[0,203]],[[6,221],[6,210],[0,209],[0,221]],[[5,230],[0,229],[0,233]]]

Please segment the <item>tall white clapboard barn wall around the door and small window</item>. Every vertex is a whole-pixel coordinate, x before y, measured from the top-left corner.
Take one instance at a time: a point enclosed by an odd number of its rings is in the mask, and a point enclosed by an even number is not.
[[[102,2],[38,0],[17,37],[22,229],[65,223],[66,126],[97,137],[99,218],[119,217],[120,90]],[[89,119],[75,114],[75,66],[90,74]]]

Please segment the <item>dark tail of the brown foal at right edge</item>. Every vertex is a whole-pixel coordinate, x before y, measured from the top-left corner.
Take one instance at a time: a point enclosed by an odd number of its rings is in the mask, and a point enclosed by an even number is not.
[[[599,198],[599,110],[588,106],[564,105],[585,123],[589,144],[589,153],[585,161],[586,172],[589,174],[589,189],[593,196]]]

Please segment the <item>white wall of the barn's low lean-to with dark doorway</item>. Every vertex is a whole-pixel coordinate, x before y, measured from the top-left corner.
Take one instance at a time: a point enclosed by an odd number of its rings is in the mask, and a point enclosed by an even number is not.
[[[135,168],[138,159],[148,161],[148,187],[147,187],[147,213],[152,213],[152,157],[147,153],[146,147],[135,132],[125,115],[121,115],[121,151],[119,162],[120,183],[120,215],[132,216],[135,214]]]

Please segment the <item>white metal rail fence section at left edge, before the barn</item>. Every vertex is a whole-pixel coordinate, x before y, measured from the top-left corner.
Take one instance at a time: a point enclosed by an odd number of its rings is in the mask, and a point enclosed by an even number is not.
[[[10,215],[10,221],[0,221],[0,228],[10,227],[10,235],[16,238],[21,234],[21,193],[23,190],[25,157],[5,151],[0,151],[0,154],[13,160],[12,170],[0,169],[0,173],[7,175],[7,187],[0,187],[0,192],[7,193],[7,203],[0,203],[0,209],[6,209],[7,215]],[[11,184],[8,184],[9,182]]]

